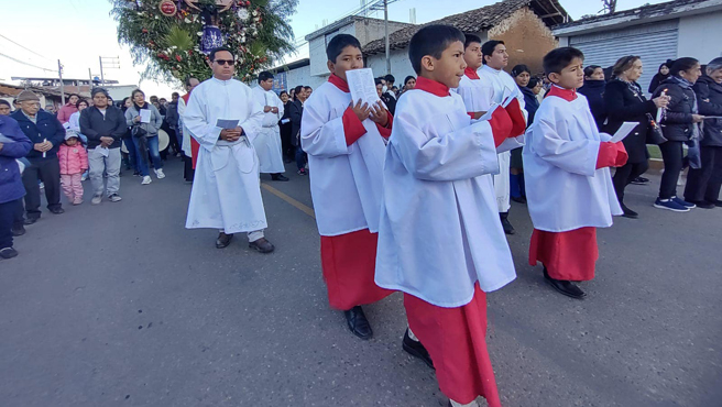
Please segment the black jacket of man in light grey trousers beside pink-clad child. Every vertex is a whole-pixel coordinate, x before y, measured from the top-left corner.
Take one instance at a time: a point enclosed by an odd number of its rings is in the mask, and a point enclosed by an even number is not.
[[[114,106],[109,106],[105,116],[95,106],[80,112],[80,133],[88,138],[88,148],[100,145],[100,138],[113,138],[108,148],[118,148],[127,131],[125,116]]]

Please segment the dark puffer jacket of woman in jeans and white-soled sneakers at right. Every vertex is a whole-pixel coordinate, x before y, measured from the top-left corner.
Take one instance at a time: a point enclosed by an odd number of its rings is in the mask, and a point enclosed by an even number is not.
[[[685,88],[674,78],[668,78],[659,84],[653,98],[661,95],[665,89],[671,99],[661,119],[661,131],[669,141],[689,141],[697,125],[692,123],[692,114],[697,114],[693,111],[697,95],[692,88]]]

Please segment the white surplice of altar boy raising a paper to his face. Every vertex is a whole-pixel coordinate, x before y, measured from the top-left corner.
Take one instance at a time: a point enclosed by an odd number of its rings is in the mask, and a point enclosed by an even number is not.
[[[325,82],[304,105],[300,145],[308,153],[316,223],[324,237],[379,230],[385,144],[367,119],[367,133],[346,145],[342,117],[350,102],[351,94]]]

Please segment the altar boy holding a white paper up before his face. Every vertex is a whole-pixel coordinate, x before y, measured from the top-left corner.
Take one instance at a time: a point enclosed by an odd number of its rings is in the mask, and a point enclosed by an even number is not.
[[[321,267],[332,308],[357,337],[373,331],[361,308],[392,292],[373,282],[385,143],[392,117],[381,105],[351,100],[346,72],[363,68],[353,35],[326,50],[331,76],[304,105],[300,145],[308,153],[310,194],[321,235]]]

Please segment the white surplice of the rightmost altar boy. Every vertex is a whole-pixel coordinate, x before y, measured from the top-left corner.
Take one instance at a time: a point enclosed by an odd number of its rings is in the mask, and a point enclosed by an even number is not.
[[[534,228],[566,232],[612,226],[622,215],[610,168],[597,169],[601,142],[587,98],[566,101],[549,96],[526,132],[522,153],[526,198]]]

